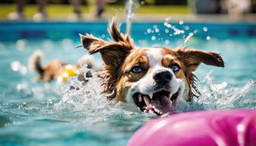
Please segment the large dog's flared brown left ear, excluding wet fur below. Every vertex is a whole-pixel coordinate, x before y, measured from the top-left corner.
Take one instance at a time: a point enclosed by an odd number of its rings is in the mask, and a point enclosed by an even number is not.
[[[114,39],[114,42],[105,42],[104,40],[90,34],[86,34],[85,36],[80,34],[82,45],[85,49],[88,49],[90,54],[101,52],[101,57],[105,65],[120,65],[120,63],[122,63],[125,57],[130,53],[130,50],[133,49],[133,43],[130,41],[130,37],[128,35],[123,37],[123,34],[120,33],[119,29],[117,29],[115,19],[113,19],[110,24],[109,33]]]

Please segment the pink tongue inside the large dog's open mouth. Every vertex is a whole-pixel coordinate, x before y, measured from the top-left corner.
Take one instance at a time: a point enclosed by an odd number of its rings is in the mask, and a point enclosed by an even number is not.
[[[168,113],[174,110],[171,100],[165,95],[152,99],[150,105],[155,106],[155,109],[158,109],[161,113]]]

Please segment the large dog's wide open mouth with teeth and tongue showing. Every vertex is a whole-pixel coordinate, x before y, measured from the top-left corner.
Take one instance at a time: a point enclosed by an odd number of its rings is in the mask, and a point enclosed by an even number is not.
[[[160,90],[151,95],[136,93],[133,100],[142,112],[152,110],[157,115],[168,113],[174,110],[179,90],[172,94],[167,90]]]

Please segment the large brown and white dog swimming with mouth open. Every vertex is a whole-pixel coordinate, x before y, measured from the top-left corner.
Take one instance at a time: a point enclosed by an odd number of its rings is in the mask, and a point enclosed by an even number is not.
[[[193,71],[200,63],[224,67],[222,57],[215,52],[181,47],[136,48],[129,35],[120,33],[115,21],[109,33],[113,42],[80,35],[82,45],[90,54],[101,53],[104,93],[110,99],[133,103],[141,111],[161,115],[174,110],[179,100],[191,100],[195,95]]]

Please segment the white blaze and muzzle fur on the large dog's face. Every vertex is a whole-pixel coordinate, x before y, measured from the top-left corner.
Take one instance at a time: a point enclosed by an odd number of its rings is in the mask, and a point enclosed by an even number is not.
[[[146,56],[149,59],[149,68],[152,71],[144,75],[139,81],[136,81],[135,83],[133,83],[133,85],[128,90],[128,94],[126,96],[127,103],[134,103],[133,94],[141,93],[141,94],[152,95],[155,92],[159,91],[159,90],[155,90],[156,82],[153,76],[156,73],[161,71],[171,72],[172,79],[168,87],[162,88],[160,90],[168,90],[171,93],[171,96],[177,93],[178,90],[180,90],[181,92],[179,92],[178,98],[183,98],[184,89],[185,89],[184,81],[176,78],[171,68],[165,68],[162,65],[162,58],[163,58],[162,49],[150,48],[146,52]]]

